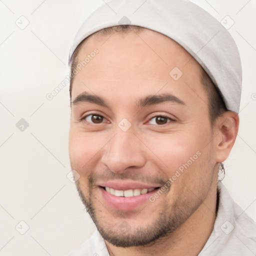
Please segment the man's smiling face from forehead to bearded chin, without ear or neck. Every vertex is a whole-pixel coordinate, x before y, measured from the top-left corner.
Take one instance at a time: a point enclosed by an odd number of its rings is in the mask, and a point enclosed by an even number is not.
[[[147,244],[179,228],[215,183],[201,67],[178,43],[148,29],[92,37],[78,63],[95,48],[72,85],[76,186],[105,240]]]

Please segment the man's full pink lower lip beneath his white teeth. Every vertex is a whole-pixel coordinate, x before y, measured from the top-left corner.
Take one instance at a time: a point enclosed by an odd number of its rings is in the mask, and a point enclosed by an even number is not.
[[[124,197],[124,196],[115,196],[108,193],[104,188],[99,187],[101,195],[105,203],[113,209],[128,211],[141,206],[142,204],[149,201],[149,197],[154,194],[158,189],[154,189],[148,193],[140,194],[136,196]]]

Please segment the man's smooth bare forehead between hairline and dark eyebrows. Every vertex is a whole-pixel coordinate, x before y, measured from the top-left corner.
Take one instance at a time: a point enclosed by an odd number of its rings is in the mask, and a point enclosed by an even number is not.
[[[171,38],[146,28],[93,35],[79,49],[76,64],[80,66],[72,98],[88,88],[95,93],[119,91],[123,96],[151,94],[166,83],[161,92],[202,90],[198,62]]]

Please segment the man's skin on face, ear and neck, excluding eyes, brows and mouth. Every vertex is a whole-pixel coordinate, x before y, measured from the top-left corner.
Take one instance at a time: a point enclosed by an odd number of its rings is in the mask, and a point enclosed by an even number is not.
[[[69,156],[80,175],[77,189],[84,204],[92,207],[89,213],[110,255],[198,255],[213,228],[218,163],[234,144],[238,115],[226,111],[211,126],[201,67],[172,39],[149,29],[109,36],[91,37],[78,54],[79,62],[94,48],[99,50],[75,75],[71,101],[87,92],[108,106],[86,101],[71,105]],[[173,67],[183,73],[176,81],[169,75]],[[140,98],[163,93],[184,104],[136,105]],[[88,116],[92,113],[103,116],[102,122],[93,123]],[[155,116],[162,115],[170,119],[157,124]],[[118,126],[123,118],[131,124],[127,131]],[[99,193],[96,183],[113,177],[167,181],[197,151],[200,156],[154,202],[123,211],[109,207]],[[129,226],[125,231],[118,228],[123,221]],[[112,244],[116,238],[149,239],[163,226],[165,233],[144,245]]]

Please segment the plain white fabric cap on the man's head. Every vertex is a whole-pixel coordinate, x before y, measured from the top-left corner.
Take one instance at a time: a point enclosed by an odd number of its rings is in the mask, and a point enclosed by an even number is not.
[[[242,71],[237,46],[229,32],[208,12],[188,0],[110,0],[93,11],[76,33],[78,44],[110,26],[137,25],[167,35],[185,48],[219,88],[228,110],[239,112]]]

